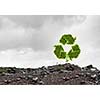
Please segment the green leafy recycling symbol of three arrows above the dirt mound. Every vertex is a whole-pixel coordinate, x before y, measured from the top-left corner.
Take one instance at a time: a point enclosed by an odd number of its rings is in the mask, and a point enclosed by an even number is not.
[[[75,44],[76,37],[73,37],[71,34],[64,34],[59,40],[60,44],[54,45],[55,50],[54,54],[58,59],[66,59],[66,61],[77,58],[81,52],[78,44]],[[70,45],[71,49],[68,52],[65,52],[63,46]]]

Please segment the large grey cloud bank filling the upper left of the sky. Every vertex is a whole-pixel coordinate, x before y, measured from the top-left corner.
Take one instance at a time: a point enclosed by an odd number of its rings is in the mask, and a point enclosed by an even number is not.
[[[85,16],[24,15],[0,17],[0,50],[33,48],[50,50],[64,28],[85,20]]]

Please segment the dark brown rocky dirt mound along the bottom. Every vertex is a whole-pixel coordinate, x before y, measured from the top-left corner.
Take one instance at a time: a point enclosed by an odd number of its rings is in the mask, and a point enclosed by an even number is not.
[[[99,85],[100,71],[92,65],[66,63],[41,68],[0,67],[1,85]]]

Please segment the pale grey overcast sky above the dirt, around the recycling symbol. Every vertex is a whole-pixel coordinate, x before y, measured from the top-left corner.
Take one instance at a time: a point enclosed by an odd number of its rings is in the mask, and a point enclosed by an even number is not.
[[[100,68],[100,16],[0,15],[0,66],[41,67],[56,63],[53,45],[62,34],[77,37],[81,54],[71,63]]]

